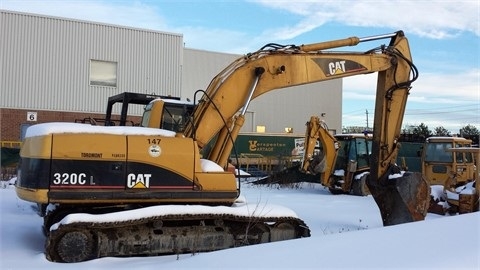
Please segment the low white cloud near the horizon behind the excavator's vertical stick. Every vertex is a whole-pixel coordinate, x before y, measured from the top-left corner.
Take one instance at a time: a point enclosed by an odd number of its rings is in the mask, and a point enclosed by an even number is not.
[[[420,73],[408,97],[403,126],[425,123],[431,130],[443,126],[455,133],[468,124],[480,126],[479,74],[480,69]],[[365,125],[365,109],[356,109],[367,108],[373,113],[376,77],[374,73],[343,80],[344,111],[347,111],[342,117],[343,126]],[[373,117],[370,119],[373,121]]]

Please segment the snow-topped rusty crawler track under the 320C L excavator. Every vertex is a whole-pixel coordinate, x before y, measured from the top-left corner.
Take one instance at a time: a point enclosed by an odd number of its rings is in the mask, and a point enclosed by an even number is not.
[[[98,219],[98,215],[87,216],[86,220]],[[50,261],[70,263],[101,257],[208,252],[309,236],[305,222],[291,215],[191,212],[123,221],[60,222],[50,230],[46,256]]]

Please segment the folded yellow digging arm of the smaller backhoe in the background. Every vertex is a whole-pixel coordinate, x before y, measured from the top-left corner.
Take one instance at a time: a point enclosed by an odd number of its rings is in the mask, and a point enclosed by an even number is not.
[[[306,124],[305,143],[300,170],[305,173],[319,174],[322,184],[326,185],[332,174],[337,158],[338,142],[328,131],[326,123],[318,116],[311,116]],[[315,154],[317,140],[321,153]]]

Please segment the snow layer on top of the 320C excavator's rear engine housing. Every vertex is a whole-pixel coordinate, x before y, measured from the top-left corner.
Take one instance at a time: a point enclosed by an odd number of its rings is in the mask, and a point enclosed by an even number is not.
[[[92,126],[90,124],[51,122],[36,124],[27,129],[25,138],[62,133],[98,133],[115,135],[160,135],[174,137],[175,132],[165,129],[132,126]]]

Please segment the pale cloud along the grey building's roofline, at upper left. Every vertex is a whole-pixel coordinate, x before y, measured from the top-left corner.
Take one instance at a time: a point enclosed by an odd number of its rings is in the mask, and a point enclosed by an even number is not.
[[[244,54],[258,49],[247,33],[202,26],[170,25],[152,1],[19,1],[0,0],[0,9],[180,33],[188,48]],[[234,46],[232,46],[234,45]]]

